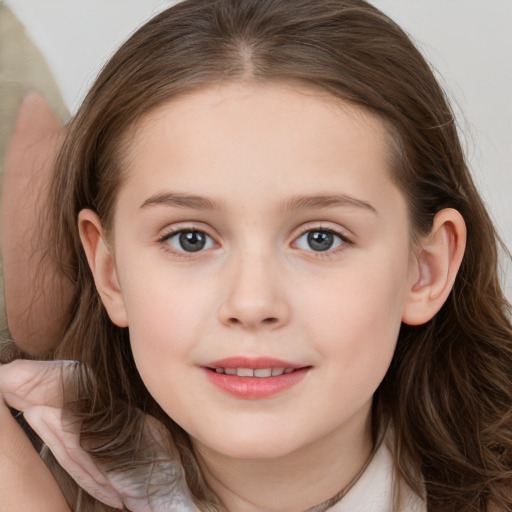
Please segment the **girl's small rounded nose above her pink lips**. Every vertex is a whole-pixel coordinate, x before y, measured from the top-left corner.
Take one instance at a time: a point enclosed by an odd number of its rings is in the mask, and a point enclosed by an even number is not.
[[[278,269],[262,255],[245,254],[229,265],[219,320],[248,330],[278,329],[290,318],[290,308]]]

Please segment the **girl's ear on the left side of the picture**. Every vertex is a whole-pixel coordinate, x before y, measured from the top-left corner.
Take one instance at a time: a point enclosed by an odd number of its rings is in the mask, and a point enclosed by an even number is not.
[[[92,210],[82,210],[78,215],[78,228],[96,288],[108,315],[119,327],[127,327],[128,315],[114,257],[105,241],[98,215]]]

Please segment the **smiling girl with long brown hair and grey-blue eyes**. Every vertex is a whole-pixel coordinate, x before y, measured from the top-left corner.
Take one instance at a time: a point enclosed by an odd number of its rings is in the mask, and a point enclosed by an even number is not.
[[[73,510],[510,509],[498,238],[380,11],[169,9],[100,74],[52,186],[57,358],[81,364],[4,394],[93,495],[56,468]]]

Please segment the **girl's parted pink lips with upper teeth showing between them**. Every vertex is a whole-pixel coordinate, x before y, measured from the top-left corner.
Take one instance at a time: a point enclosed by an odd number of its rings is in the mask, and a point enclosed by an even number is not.
[[[241,399],[260,400],[298,384],[311,366],[272,358],[233,357],[203,367],[209,381],[223,392]]]

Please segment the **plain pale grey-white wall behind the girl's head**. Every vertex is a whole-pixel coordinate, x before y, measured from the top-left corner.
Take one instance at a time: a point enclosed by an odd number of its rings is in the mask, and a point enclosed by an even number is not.
[[[5,0],[74,111],[101,65],[174,0]],[[311,0],[314,1],[314,0]],[[453,101],[473,175],[512,249],[512,0],[372,0],[414,39]],[[512,298],[512,265],[507,294]]]

